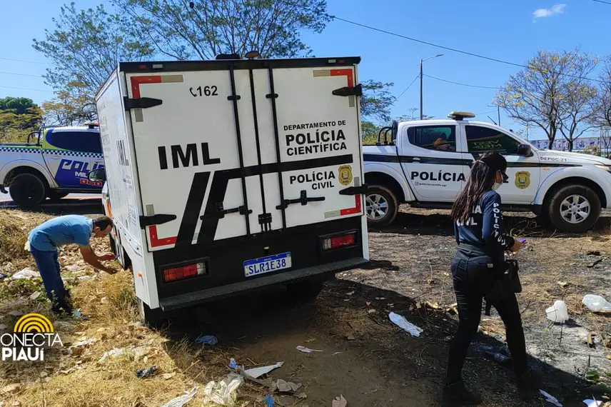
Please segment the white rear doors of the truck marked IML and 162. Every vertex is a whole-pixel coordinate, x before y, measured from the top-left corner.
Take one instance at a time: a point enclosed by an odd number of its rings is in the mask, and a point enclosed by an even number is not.
[[[149,251],[361,216],[357,63],[122,64]]]

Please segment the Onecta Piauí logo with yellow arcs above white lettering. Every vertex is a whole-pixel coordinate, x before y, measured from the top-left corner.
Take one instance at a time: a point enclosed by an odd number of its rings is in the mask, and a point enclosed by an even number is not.
[[[61,343],[49,318],[40,313],[27,313],[15,323],[13,333],[0,336],[2,361],[44,361],[45,347]]]

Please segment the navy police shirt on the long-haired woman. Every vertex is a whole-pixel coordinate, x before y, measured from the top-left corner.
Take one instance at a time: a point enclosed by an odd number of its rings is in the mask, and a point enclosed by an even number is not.
[[[511,236],[503,234],[503,228],[500,195],[492,190],[483,194],[467,221],[454,222],[457,243],[470,244],[494,255],[502,255],[515,244]]]

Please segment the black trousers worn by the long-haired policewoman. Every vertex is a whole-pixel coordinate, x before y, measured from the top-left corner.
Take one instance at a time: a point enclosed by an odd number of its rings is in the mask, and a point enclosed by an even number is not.
[[[459,322],[458,331],[450,343],[448,384],[461,380],[460,372],[463,370],[467,350],[480,325],[483,297],[490,292],[500,273],[492,257],[460,250],[454,256],[451,271]],[[495,299],[492,305],[505,323],[515,374],[521,376],[527,371],[526,344],[515,293],[510,292],[503,298]]]

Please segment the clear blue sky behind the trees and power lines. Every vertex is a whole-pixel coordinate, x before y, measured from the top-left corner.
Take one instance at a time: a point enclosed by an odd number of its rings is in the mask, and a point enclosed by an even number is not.
[[[605,35],[611,18],[611,5],[593,0],[327,0],[328,13],[411,36],[423,41],[483,54],[522,64],[537,51],[573,49],[604,56],[611,54]],[[25,96],[41,102],[53,93],[40,77],[46,69],[44,56],[31,47],[31,40],[43,39],[44,29],[53,29],[51,18],[67,1],[7,1],[0,15],[0,97]],[[87,8],[95,0],[76,0]],[[26,5],[24,5],[26,4]],[[458,7],[462,6],[462,9]],[[394,82],[393,94],[400,94],[418,75],[418,61],[426,61],[424,72],[449,81],[478,86],[500,86],[518,68],[453,51],[417,44],[342,21],[332,21],[322,34],[305,34],[304,39],[316,56],[361,56],[360,80]],[[29,62],[7,61],[20,59]],[[33,62],[37,62],[35,64]],[[17,76],[16,73],[33,76]],[[419,82],[401,96],[393,115],[411,115],[419,106]],[[13,88],[24,89],[9,89]],[[39,90],[25,90],[39,89]],[[472,111],[478,119],[497,120],[490,107],[493,89],[476,89],[424,78],[424,113],[438,118],[452,110]],[[488,112],[486,114],[482,114]],[[418,115],[418,111],[415,112]],[[501,125],[522,129],[501,111]],[[530,139],[545,138],[531,131]]]

